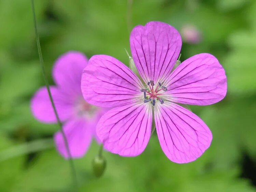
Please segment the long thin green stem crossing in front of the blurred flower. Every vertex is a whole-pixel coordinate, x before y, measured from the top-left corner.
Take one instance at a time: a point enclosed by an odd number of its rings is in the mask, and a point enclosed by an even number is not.
[[[43,55],[42,55],[42,50],[41,50],[39,35],[38,35],[38,30],[37,30],[37,21],[36,21],[36,18],[35,18],[35,8],[34,8],[34,1],[33,0],[31,0],[31,4],[32,4],[32,13],[33,13],[33,20],[34,20],[35,36],[36,36],[36,39],[37,39],[38,55],[39,55],[39,60],[40,60],[40,64],[41,64],[41,68],[42,68],[42,72],[43,72],[43,77],[44,77],[45,85],[46,85],[46,88],[47,88],[47,91],[48,91],[48,94],[49,94],[49,98],[51,100],[51,103],[52,103],[52,106],[53,106],[53,109],[54,109],[54,114],[55,114],[56,119],[58,121],[60,132],[63,136],[63,140],[64,140],[65,147],[66,147],[68,157],[69,157],[68,159],[69,159],[70,168],[71,168],[71,172],[72,172],[72,176],[73,176],[74,187],[77,191],[78,187],[77,187],[76,171],[75,171],[75,166],[74,166],[74,163],[73,163],[73,160],[72,160],[72,157],[71,157],[71,153],[70,153],[70,149],[69,149],[69,145],[68,145],[68,140],[67,140],[67,137],[66,137],[66,135],[63,131],[62,124],[60,122],[59,115],[57,113],[57,110],[56,110],[56,107],[55,107],[55,104],[54,104],[54,101],[53,101],[53,97],[52,97],[52,94],[51,94],[51,91],[50,91],[50,88],[49,88],[49,83],[48,83],[48,80],[47,80],[47,77],[46,77],[46,74],[45,74],[44,61],[43,61]]]

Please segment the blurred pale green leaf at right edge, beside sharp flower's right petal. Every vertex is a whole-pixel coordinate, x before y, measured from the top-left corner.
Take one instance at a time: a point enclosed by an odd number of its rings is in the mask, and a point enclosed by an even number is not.
[[[224,60],[230,93],[252,94],[256,90],[256,30],[238,32],[229,39],[232,52]]]

